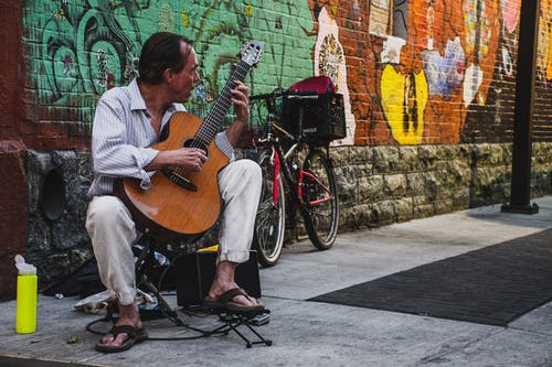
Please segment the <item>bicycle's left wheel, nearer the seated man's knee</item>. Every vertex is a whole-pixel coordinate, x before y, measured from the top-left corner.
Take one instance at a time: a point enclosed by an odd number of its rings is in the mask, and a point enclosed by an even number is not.
[[[265,151],[258,159],[263,170],[263,188],[255,219],[254,244],[257,249],[257,261],[263,267],[276,265],[284,247],[284,229],[286,225],[286,198],[282,174],[274,180],[274,161],[272,151]],[[274,185],[278,184],[278,197],[275,203]]]

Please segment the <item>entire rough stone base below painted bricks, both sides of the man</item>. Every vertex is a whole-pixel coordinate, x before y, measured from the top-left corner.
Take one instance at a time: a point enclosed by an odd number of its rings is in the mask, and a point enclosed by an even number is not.
[[[508,203],[510,197],[511,144],[340,147],[330,155],[340,233]],[[30,151],[26,162],[28,257],[45,287],[92,257],[85,230],[92,163],[87,151]],[[532,164],[532,195],[551,194],[552,143],[533,144]],[[60,186],[63,193],[51,192],[44,202],[44,193]],[[305,234],[296,229],[288,240]]]

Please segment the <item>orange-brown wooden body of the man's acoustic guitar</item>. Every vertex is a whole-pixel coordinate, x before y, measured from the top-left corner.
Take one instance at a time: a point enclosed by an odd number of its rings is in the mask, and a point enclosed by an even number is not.
[[[151,148],[164,151],[182,148],[193,138],[202,120],[177,112],[169,121],[169,137]],[[142,190],[139,180],[121,179],[118,196],[132,214],[138,229],[158,239],[195,238],[211,228],[221,213],[217,174],[229,158],[214,140],[206,147],[208,160],[199,172],[183,171],[193,190],[174,183],[162,171],[151,177],[151,187]],[[195,190],[195,191],[194,191]]]

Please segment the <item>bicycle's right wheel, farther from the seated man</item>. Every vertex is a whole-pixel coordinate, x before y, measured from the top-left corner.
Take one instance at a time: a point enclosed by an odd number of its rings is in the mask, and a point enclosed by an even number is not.
[[[307,234],[319,250],[329,249],[338,233],[339,205],[331,161],[320,150],[311,150],[302,165],[301,209]]]

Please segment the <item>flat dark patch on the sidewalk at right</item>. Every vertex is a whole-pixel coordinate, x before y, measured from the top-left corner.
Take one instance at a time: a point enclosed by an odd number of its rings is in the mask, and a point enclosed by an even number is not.
[[[506,326],[552,301],[552,229],[309,301]]]

